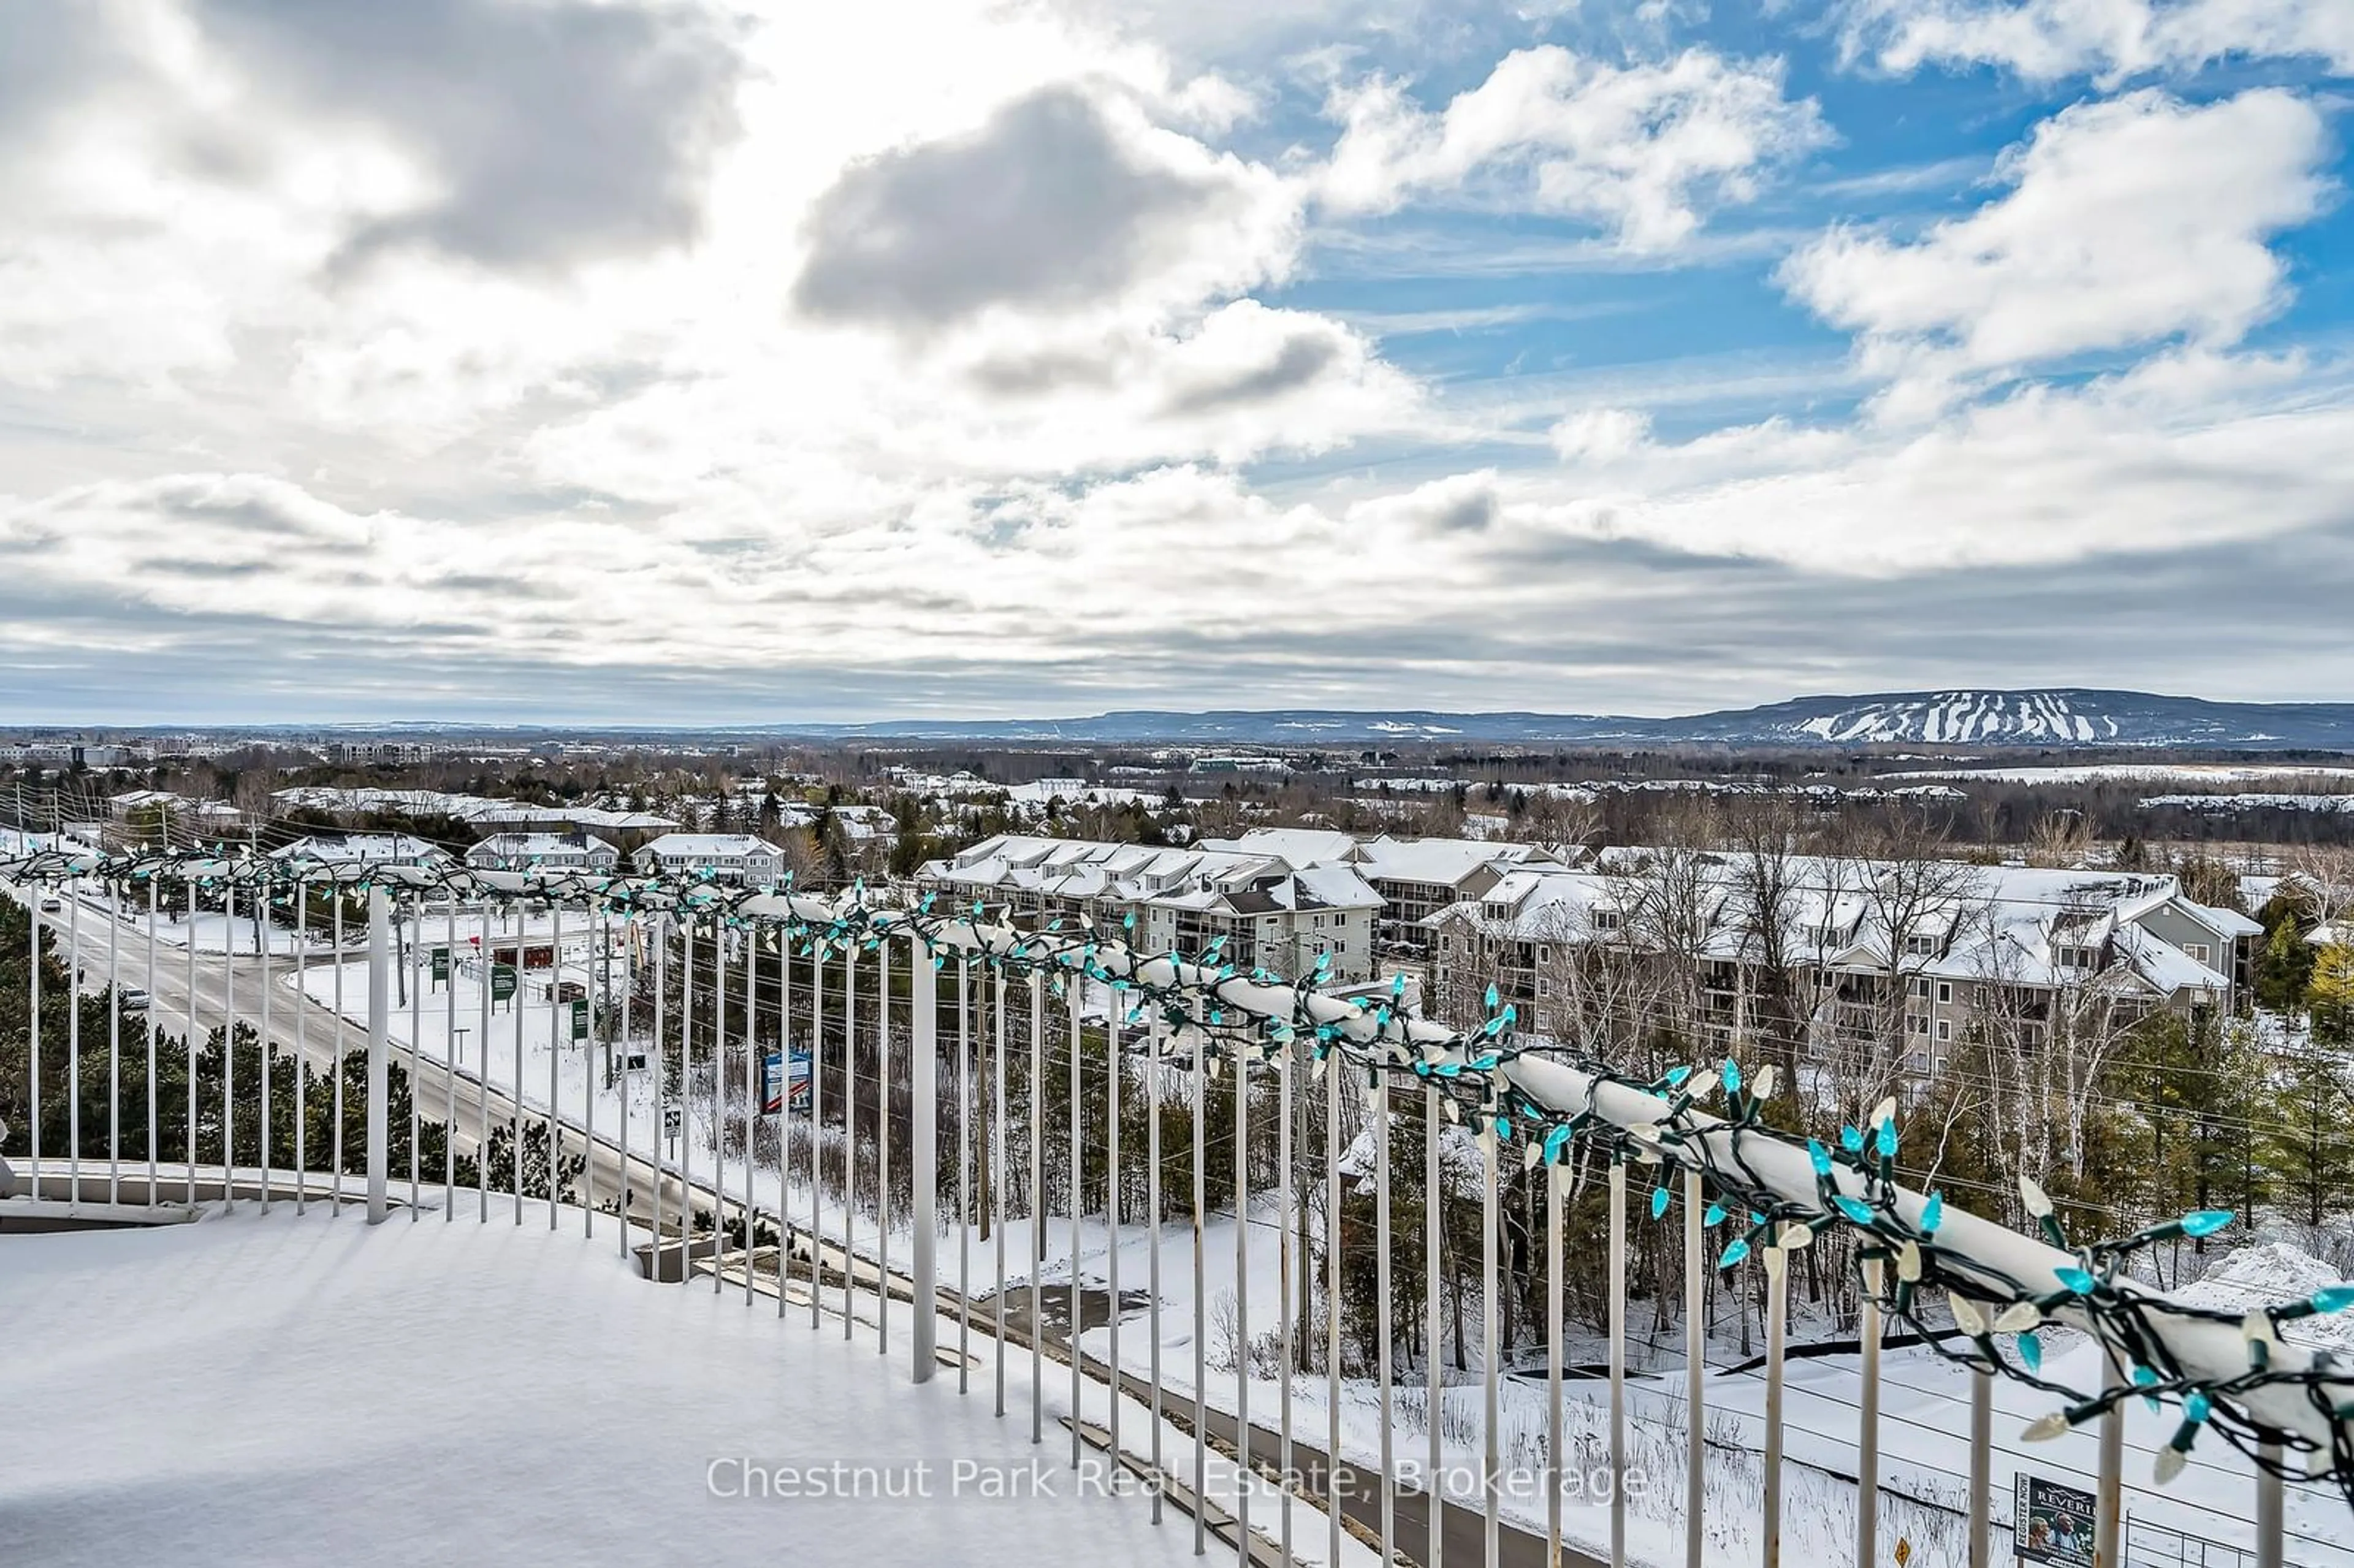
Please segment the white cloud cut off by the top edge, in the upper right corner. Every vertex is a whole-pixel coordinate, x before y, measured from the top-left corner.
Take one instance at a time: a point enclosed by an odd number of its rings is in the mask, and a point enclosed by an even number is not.
[[[2220,59],[2319,59],[2354,71],[2338,0],[1846,0],[1841,47],[1883,71],[2003,66],[2039,82],[2199,71]]]

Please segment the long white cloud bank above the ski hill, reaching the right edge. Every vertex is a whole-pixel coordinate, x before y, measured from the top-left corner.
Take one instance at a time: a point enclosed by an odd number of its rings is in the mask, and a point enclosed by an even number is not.
[[[1478,504],[1495,593],[1511,560],[1638,544],[1820,577],[2076,565],[2354,523],[2354,396],[2281,363],[2161,356],[2079,388],[2029,386],[1916,428],[1766,421],[1622,461],[1459,473],[1358,506],[1436,527]]]

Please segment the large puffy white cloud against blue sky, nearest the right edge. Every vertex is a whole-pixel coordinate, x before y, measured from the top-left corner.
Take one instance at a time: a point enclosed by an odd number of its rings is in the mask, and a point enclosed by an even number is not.
[[[2086,351],[2236,344],[2288,299],[2267,240],[2328,193],[2312,104],[2279,89],[2187,106],[2079,104],[1996,165],[2010,191],[1916,240],[1841,228],[1782,285],[1857,332],[1867,365],[1942,381]]]

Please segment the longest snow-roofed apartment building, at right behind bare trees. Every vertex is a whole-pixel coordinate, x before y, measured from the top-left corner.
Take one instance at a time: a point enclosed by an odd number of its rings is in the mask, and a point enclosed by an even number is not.
[[[1641,850],[1511,869],[1429,921],[1434,1003],[1462,1012],[1495,984],[1537,1031],[1568,1038],[1582,1010],[1631,1005],[1598,979],[1612,963],[1664,961],[1693,965],[1697,1024],[1728,1048],[1758,1026],[1780,972],[1808,1045],[1895,1029],[1907,1067],[1930,1074],[1973,1029],[2032,1050],[2062,1015],[2116,1029],[2156,1010],[2236,1010],[2262,939],[2173,876],[1791,859],[1780,897],[1761,899],[1751,873],[1737,857]],[[1766,904],[1775,930],[1761,928]]]

